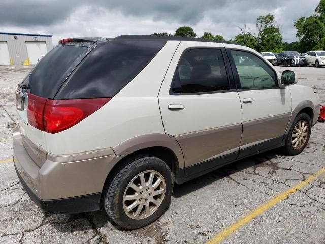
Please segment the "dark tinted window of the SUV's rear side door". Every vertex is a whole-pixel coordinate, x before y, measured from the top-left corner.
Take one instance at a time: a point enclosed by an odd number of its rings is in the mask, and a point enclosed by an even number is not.
[[[229,82],[220,49],[190,49],[175,71],[173,93],[201,93],[228,90]]]

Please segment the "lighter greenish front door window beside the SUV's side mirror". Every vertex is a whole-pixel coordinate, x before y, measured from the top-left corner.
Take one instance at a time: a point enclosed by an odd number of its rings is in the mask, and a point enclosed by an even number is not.
[[[267,89],[278,87],[275,72],[252,53],[231,50],[241,89]]]

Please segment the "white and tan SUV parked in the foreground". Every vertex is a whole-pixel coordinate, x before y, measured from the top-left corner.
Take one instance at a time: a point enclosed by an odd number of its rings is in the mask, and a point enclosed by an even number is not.
[[[46,212],[99,210],[145,226],[180,184],[307,145],[313,90],[235,43],[155,36],[68,38],[19,84],[14,165]]]

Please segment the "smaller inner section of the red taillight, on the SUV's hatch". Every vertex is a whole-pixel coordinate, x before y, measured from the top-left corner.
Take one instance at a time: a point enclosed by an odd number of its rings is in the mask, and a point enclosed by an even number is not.
[[[28,124],[42,131],[44,131],[43,110],[46,100],[46,98],[28,93]]]

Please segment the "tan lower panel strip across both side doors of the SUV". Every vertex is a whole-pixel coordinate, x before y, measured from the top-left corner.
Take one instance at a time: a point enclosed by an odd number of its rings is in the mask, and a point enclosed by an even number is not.
[[[185,167],[284,135],[291,113],[175,136]]]

